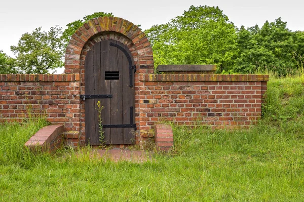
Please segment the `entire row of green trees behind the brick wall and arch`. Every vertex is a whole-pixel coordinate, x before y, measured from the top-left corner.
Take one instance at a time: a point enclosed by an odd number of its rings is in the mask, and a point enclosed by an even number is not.
[[[0,73],[48,73],[63,66],[65,48],[71,35],[85,22],[109,16],[96,12],[67,24],[62,32],[52,27],[25,33],[11,50],[16,59],[0,51]],[[279,75],[303,71],[304,32],[291,31],[278,18],[237,29],[218,7],[191,6],[170,22],[145,30],[159,64],[216,64],[217,72],[255,73],[272,71]]]

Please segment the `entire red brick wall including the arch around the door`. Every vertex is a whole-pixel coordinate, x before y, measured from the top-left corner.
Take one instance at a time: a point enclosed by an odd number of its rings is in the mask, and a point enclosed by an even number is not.
[[[153,74],[153,52],[145,34],[122,18],[102,17],[72,35],[65,54],[66,74],[0,75],[0,117],[18,119],[31,104],[35,113],[45,113],[51,123],[64,125],[68,134],[78,134],[66,142],[75,145],[80,140],[83,145],[85,102],[79,95],[85,92],[84,62],[90,48],[104,39],[125,44],[134,58],[136,143],[144,141],[163,119],[212,128],[248,128],[261,115],[268,76]]]

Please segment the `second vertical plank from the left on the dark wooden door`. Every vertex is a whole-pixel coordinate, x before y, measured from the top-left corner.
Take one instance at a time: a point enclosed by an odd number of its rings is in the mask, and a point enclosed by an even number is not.
[[[110,44],[109,41],[100,42],[101,55],[100,55],[100,71],[101,71],[101,94],[110,95],[110,80],[105,80],[105,71],[110,71]],[[111,98],[101,99],[102,106],[102,125],[111,124]],[[103,128],[103,135],[105,144],[110,144],[111,142],[111,130],[110,128]]]

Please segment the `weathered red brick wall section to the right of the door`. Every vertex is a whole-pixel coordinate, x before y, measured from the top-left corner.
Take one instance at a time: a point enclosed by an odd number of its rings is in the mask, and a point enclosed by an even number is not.
[[[268,75],[140,74],[141,136],[156,122],[248,128],[261,117]]]

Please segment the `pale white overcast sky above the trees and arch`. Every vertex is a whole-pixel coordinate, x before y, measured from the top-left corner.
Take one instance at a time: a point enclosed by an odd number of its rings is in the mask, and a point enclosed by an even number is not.
[[[25,32],[42,26],[44,30],[65,25],[94,12],[113,13],[142,30],[155,24],[164,24],[182,15],[191,5],[218,6],[238,27],[261,26],[281,17],[293,31],[304,30],[304,1],[302,0],[2,0],[0,4],[0,50],[14,56],[10,46],[16,46]]]

